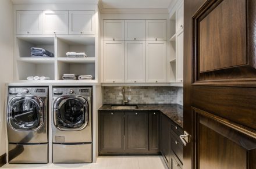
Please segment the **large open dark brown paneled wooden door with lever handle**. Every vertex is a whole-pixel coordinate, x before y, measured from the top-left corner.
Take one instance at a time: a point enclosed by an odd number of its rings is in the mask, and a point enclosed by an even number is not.
[[[255,23],[255,0],[184,0],[186,169],[256,168]]]

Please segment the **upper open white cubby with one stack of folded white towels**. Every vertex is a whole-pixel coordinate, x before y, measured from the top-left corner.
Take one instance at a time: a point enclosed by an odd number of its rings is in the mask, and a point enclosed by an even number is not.
[[[85,52],[88,57],[95,57],[95,38],[58,37],[57,51],[58,57],[67,57],[67,52]]]

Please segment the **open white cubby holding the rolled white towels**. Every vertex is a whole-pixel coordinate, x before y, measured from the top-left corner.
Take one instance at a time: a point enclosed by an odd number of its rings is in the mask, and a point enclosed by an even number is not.
[[[17,74],[18,80],[27,80],[29,76],[45,76],[54,80],[54,60],[17,60]]]

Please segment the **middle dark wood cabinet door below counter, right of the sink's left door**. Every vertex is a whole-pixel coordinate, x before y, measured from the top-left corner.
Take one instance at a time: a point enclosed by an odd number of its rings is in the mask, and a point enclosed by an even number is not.
[[[148,112],[125,112],[125,153],[148,153]]]

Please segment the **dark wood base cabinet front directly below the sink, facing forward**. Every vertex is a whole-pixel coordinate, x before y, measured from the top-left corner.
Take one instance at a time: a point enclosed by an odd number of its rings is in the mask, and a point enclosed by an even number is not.
[[[160,154],[160,113],[99,111],[99,155]]]

